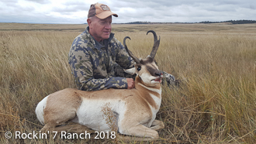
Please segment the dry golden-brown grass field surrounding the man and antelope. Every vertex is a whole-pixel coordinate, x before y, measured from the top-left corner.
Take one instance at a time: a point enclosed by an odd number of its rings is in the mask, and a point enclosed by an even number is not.
[[[67,54],[85,27],[0,23],[1,143],[116,142],[53,134],[47,139],[13,136],[17,131],[40,133],[37,103],[55,91],[76,87]],[[158,66],[182,83],[163,85],[157,119],[165,128],[159,131],[160,140],[143,143],[256,142],[256,25],[112,25],[121,42],[131,37],[126,44],[137,57],[146,57],[153,46],[153,36],[146,35],[150,29],[161,36]],[[6,139],[5,132],[12,132],[12,138]]]

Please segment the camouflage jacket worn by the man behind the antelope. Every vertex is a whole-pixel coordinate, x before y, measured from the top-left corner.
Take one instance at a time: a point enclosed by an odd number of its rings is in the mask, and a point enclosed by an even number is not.
[[[134,67],[133,59],[114,33],[101,44],[88,33],[88,27],[74,39],[68,57],[78,89],[83,91],[127,88],[126,78],[116,77],[114,67]]]

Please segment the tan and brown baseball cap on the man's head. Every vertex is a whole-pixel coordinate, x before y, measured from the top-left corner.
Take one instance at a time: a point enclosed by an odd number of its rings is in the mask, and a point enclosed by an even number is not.
[[[116,13],[113,13],[110,11],[108,5],[103,5],[98,2],[91,5],[89,12],[88,12],[88,18],[92,17],[94,15],[97,16],[99,19],[106,19],[110,15],[114,15],[114,16],[118,17],[118,15],[116,15]]]

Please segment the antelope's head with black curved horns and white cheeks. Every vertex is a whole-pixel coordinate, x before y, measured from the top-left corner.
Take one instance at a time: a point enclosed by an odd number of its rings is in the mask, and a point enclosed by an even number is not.
[[[135,67],[125,70],[126,73],[129,74],[137,74],[137,77],[140,77],[140,80],[148,87],[154,87],[157,84],[161,83],[161,79],[163,77],[163,74],[160,70],[158,70],[158,67],[154,61],[154,57],[157,53],[158,46],[160,44],[160,36],[159,39],[157,39],[157,34],[150,30],[147,33],[153,33],[154,35],[154,46],[151,50],[151,53],[149,56],[147,56],[145,59],[138,59],[133,55],[133,53],[128,50],[126,46],[126,39],[130,39],[129,36],[126,36],[123,39],[123,45],[127,51],[127,53],[130,55],[130,57],[133,58],[133,60],[136,62]]]

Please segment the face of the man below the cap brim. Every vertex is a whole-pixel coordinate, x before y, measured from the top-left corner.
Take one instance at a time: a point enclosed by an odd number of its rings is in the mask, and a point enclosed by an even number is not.
[[[111,33],[111,23],[112,16],[110,15],[106,19],[99,19],[94,16],[92,19],[88,19],[89,33],[97,40],[98,42],[103,39],[109,39]]]

